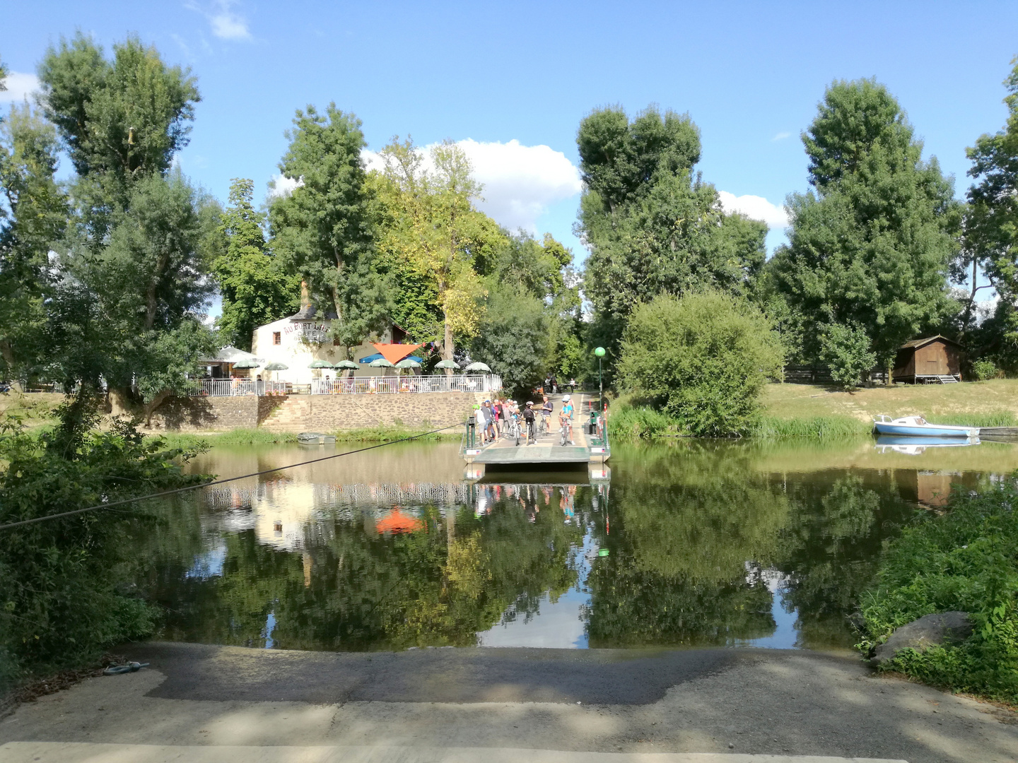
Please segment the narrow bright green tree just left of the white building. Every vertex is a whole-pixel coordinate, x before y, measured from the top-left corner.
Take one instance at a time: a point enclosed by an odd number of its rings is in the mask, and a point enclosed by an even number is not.
[[[217,320],[224,342],[250,350],[254,329],[297,310],[300,279],[285,273],[266,246],[266,215],[251,204],[252,181],[234,178],[230,206],[219,226],[220,253],[212,261],[223,311]]]

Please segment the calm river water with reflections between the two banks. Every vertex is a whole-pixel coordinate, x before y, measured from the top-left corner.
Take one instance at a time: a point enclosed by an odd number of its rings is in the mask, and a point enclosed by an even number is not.
[[[882,545],[1018,446],[617,445],[585,471],[463,480],[457,445],[400,444],[203,488],[154,510],[138,585],[163,639],[371,650],[842,650]],[[356,446],[215,448],[230,477]],[[904,451],[904,452],[901,452]]]

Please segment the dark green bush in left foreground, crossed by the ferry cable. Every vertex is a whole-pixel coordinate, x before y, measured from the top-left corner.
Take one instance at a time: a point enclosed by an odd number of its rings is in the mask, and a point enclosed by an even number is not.
[[[42,437],[0,431],[0,524],[192,484],[181,461],[132,425],[94,431],[91,401],[59,410]],[[36,671],[79,665],[152,631],[155,610],[129,592],[128,528],[136,506],[0,530],[0,689]]]

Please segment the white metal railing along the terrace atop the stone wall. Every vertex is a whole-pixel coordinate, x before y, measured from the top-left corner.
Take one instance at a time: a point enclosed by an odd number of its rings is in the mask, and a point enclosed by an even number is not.
[[[211,398],[228,398],[239,395],[287,395],[293,392],[294,387],[289,382],[252,378],[203,378],[200,382],[202,387],[193,394]],[[310,384],[312,395],[498,392],[501,389],[501,376],[479,373],[460,373],[452,376],[351,376],[350,378],[319,378]]]

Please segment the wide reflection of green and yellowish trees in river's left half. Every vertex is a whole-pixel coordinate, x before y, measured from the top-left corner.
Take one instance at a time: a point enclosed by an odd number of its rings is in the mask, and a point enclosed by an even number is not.
[[[416,532],[380,534],[374,520],[308,527],[302,552],[261,544],[251,530],[223,536],[221,575],[188,578],[188,542],[157,538],[149,590],[168,610],[166,636],[262,645],[272,612],[279,648],[371,649],[471,645],[504,612],[528,617],[575,583],[567,565],[582,530],[535,497],[501,494],[475,518],[470,508],[422,513]],[[556,497],[557,503],[557,497]],[[188,517],[182,517],[187,519]],[[199,526],[197,514],[189,517]],[[193,539],[177,525],[170,534]],[[312,537],[312,535],[314,537]]]

